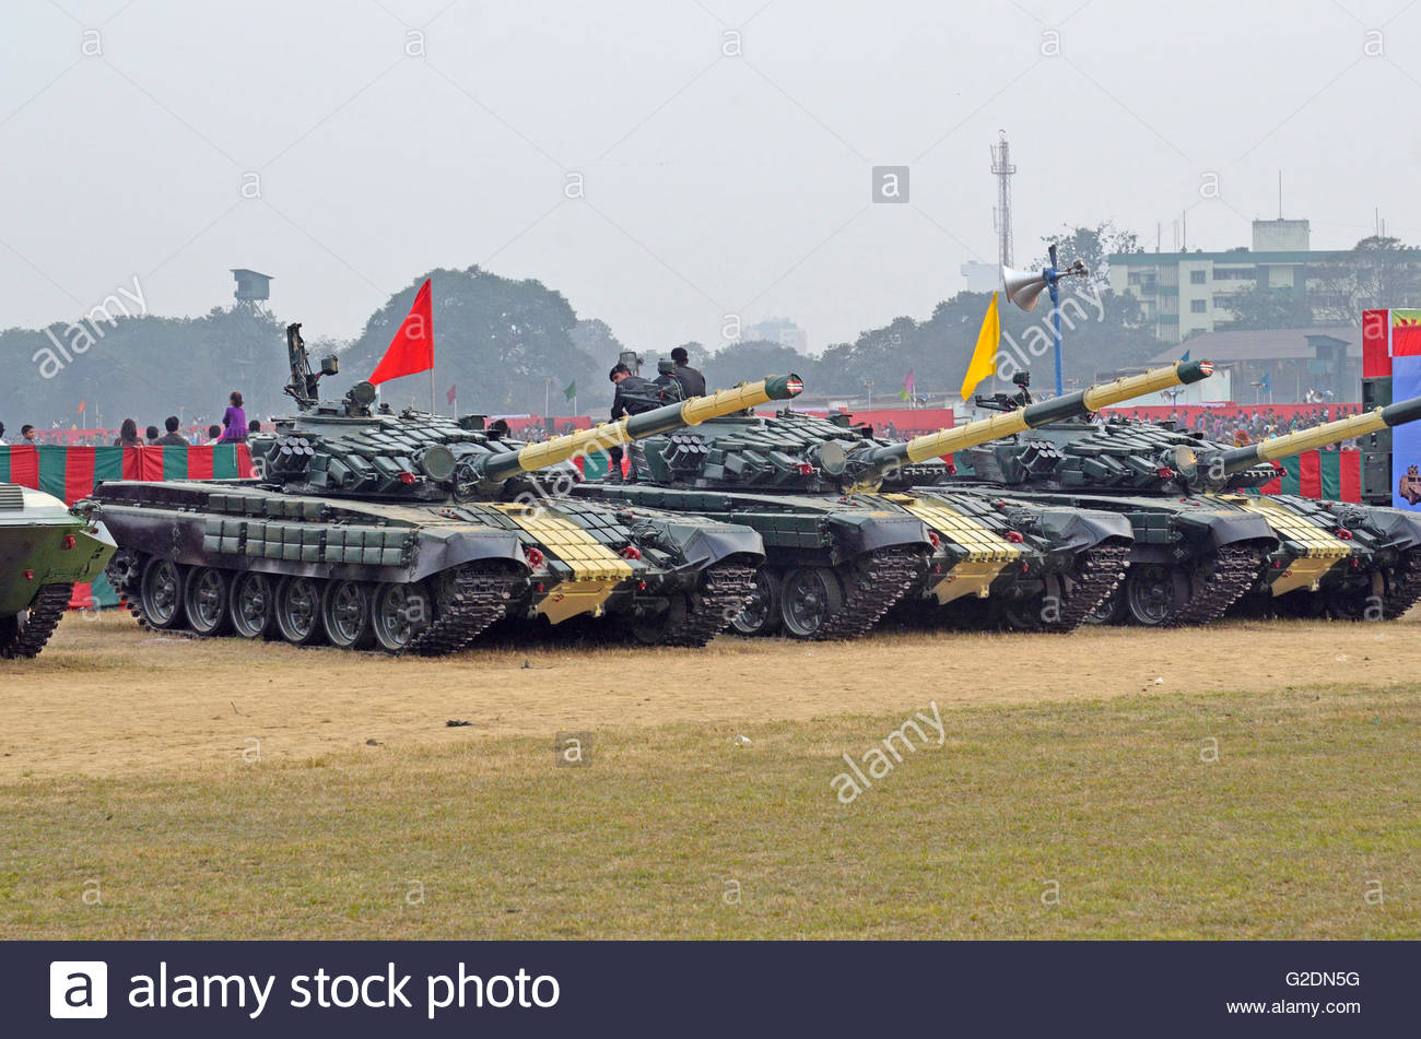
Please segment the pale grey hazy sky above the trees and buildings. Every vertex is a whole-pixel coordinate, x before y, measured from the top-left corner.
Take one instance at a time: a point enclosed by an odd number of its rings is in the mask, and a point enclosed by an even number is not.
[[[281,318],[351,336],[416,274],[482,264],[638,348],[718,345],[737,314],[817,349],[925,318],[993,260],[999,128],[1023,264],[1063,221],[1151,248],[1162,221],[1172,248],[1185,209],[1191,247],[1248,244],[1279,169],[1314,248],[1370,234],[1374,207],[1421,243],[1414,0],[6,0],[0,20],[0,326],[134,275],[152,312],[202,314],[252,267]],[[870,202],[875,165],[909,167],[908,204]]]

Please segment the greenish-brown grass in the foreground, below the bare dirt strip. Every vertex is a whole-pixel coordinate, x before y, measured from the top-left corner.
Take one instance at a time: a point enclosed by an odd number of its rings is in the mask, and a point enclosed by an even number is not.
[[[944,708],[850,805],[911,710],[11,778],[0,937],[1415,938],[1418,691]]]

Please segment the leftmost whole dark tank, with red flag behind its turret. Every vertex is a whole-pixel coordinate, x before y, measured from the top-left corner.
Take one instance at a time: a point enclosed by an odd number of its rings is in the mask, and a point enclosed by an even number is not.
[[[375,406],[357,383],[321,400],[287,329],[297,414],[252,441],[237,481],[108,481],[94,491],[119,551],[114,585],[141,623],[205,636],[452,653],[503,619],[605,617],[648,644],[699,646],[752,592],[755,531],[573,500],[587,450],[797,395],[767,379],[546,443],[482,416]]]

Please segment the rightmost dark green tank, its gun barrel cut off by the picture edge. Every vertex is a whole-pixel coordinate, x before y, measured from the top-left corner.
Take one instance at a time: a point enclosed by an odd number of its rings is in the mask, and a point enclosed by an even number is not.
[[[978,403],[1003,406],[980,397]],[[1393,410],[1391,420],[1404,413]],[[953,485],[1127,517],[1134,529],[1128,572],[1090,619],[1148,626],[1208,623],[1246,596],[1256,602],[1259,595],[1326,593],[1340,582],[1353,583],[1350,578],[1343,582],[1347,571],[1358,571],[1358,578],[1370,572],[1363,556],[1370,558],[1373,539],[1358,541],[1350,528],[1340,537],[1343,512],[1358,527],[1366,525],[1366,512],[1385,528],[1376,544],[1407,551],[1403,545],[1411,537],[1411,521],[1395,510],[1373,512],[1248,493],[1277,475],[1266,464],[1269,458],[1363,431],[1366,423],[1341,420],[1265,441],[1266,447],[1233,449],[1154,423],[1071,419],[965,451]]]

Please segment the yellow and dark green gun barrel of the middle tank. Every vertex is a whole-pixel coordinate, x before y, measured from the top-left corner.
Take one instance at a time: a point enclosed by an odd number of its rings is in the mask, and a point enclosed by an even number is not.
[[[1049,422],[1081,417],[1091,412],[1098,412],[1101,407],[1118,405],[1121,400],[1155,393],[1171,386],[1185,386],[1199,382],[1211,375],[1214,375],[1214,365],[1209,361],[1179,361],[1167,368],[1154,368],[1141,375],[1097,383],[1076,393],[1067,393],[1063,397],[1042,400],[1012,412],[1002,412],[988,419],[969,422],[966,426],[955,426],[953,429],[914,437],[904,444],[880,447],[870,456],[868,468],[860,477],[860,483],[872,483],[894,466],[909,461],[928,461],[929,458],[951,454],[952,451],[983,444],[988,440],[1000,440],[1002,437],[1009,437],[1036,426],[1044,426]]]

